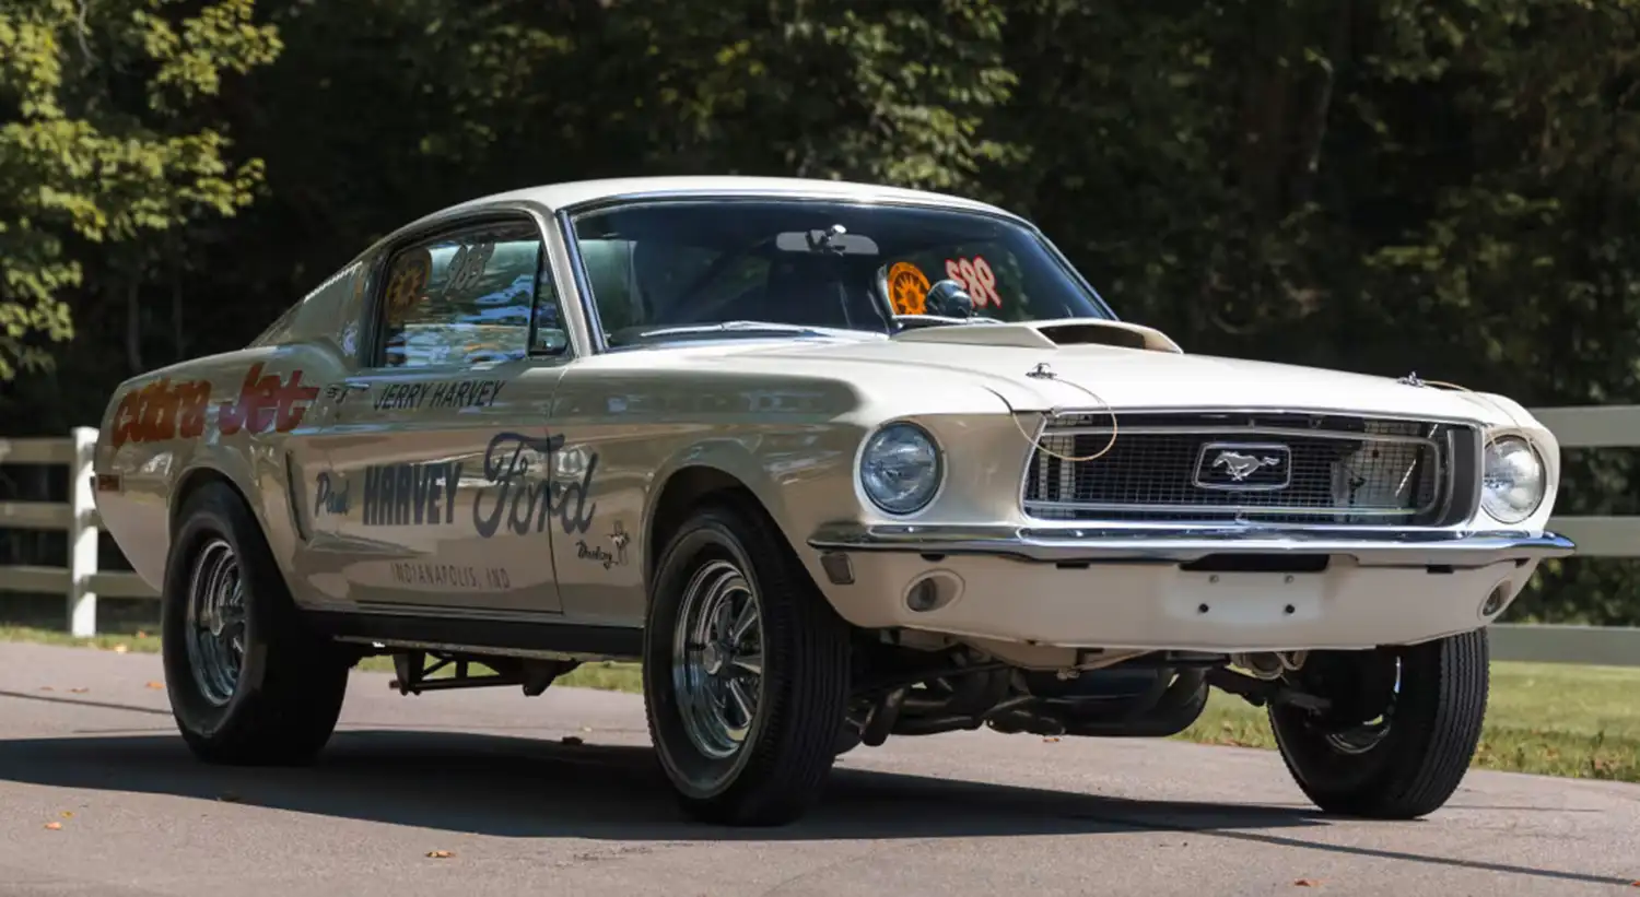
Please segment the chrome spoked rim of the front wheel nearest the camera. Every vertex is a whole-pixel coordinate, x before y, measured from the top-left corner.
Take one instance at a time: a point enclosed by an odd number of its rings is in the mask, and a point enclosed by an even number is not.
[[[689,579],[672,630],[672,690],[689,741],[710,759],[740,751],[763,700],[763,608],[740,567],[708,561]]]

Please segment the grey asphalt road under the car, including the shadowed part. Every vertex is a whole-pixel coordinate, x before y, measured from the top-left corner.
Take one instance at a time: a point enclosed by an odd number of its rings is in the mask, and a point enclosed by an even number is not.
[[[318,766],[221,769],[159,676],[0,644],[0,894],[1640,894],[1637,785],[1471,772],[1369,823],[1319,817],[1266,751],[954,733],[856,749],[810,818],[735,831],[681,818],[633,695],[356,674]]]

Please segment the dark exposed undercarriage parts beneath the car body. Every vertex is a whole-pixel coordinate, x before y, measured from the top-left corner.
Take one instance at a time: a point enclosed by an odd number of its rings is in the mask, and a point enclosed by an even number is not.
[[[840,753],[858,744],[879,746],[891,735],[979,728],[1040,736],[1166,738],[1196,723],[1210,689],[1255,707],[1299,708],[1342,731],[1389,707],[1392,690],[1384,687],[1381,669],[1396,658],[1392,649],[1151,651],[1104,663],[1091,659],[1082,667],[1023,669],[963,644],[927,651],[861,633],[854,648]],[[581,666],[569,656],[359,646],[359,658],[372,654],[392,656],[390,687],[407,695],[520,687],[535,697]]]

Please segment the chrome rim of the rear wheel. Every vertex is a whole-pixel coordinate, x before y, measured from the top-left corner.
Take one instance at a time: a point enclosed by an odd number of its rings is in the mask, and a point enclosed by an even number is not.
[[[228,703],[244,663],[244,584],[239,559],[223,540],[212,540],[195,556],[184,643],[200,695],[218,707]]]

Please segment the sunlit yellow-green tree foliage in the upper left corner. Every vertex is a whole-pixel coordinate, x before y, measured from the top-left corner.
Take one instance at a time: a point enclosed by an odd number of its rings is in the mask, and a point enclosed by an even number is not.
[[[277,56],[253,8],[0,0],[0,379],[46,361],[41,338],[74,336],[62,297],[84,284],[84,253],[251,200],[261,166],[233,166],[198,113],[225,72]]]

